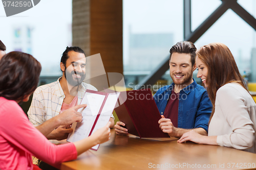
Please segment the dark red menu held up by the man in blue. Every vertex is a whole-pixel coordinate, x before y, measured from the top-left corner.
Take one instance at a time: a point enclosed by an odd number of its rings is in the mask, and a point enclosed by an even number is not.
[[[140,138],[169,137],[159,127],[161,115],[150,89],[122,91],[118,100],[122,104],[115,108],[116,114],[130,134]]]

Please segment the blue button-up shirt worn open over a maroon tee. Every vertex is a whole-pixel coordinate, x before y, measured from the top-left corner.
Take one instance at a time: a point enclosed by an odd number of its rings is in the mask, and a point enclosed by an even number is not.
[[[208,132],[208,122],[212,110],[208,93],[203,86],[194,82],[180,90],[178,108],[178,128],[203,128]],[[154,95],[160,114],[163,114],[170,98],[174,83],[157,90]],[[166,117],[168,118],[168,117]]]

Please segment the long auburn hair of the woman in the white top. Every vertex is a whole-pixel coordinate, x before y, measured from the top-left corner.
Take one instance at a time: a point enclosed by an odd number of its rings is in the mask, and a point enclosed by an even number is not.
[[[206,84],[209,99],[213,106],[211,119],[215,112],[216,93],[221,86],[237,82],[246,89],[246,85],[232,53],[225,44],[218,42],[204,45],[197,51],[197,57],[202,60],[208,69]]]

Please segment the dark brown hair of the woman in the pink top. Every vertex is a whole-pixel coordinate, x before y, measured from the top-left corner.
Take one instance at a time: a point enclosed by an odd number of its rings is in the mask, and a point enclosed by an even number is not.
[[[22,101],[37,87],[41,64],[31,55],[10,52],[0,60],[0,96]]]

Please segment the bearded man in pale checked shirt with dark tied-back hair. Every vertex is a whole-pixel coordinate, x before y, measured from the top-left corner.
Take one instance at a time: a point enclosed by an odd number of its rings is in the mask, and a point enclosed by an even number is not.
[[[87,89],[97,89],[83,80],[86,77],[86,55],[77,46],[67,47],[60,60],[62,77],[56,82],[39,86],[34,94],[28,111],[30,122],[39,131],[46,126],[43,124],[50,118],[61,115],[69,108],[80,104]],[[111,118],[111,127],[114,127],[114,118]],[[62,140],[72,132],[69,126],[60,126],[46,137]]]

